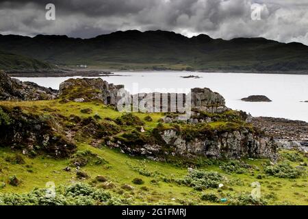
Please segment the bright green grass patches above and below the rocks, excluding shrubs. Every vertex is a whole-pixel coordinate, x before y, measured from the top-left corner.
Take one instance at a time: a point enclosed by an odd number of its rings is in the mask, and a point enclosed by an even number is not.
[[[123,115],[123,113],[116,112],[112,107],[107,107],[101,103],[59,103],[59,101],[22,101],[13,102],[5,101],[0,103],[4,107],[16,107],[19,106],[24,112],[39,115],[53,115],[62,114],[63,116],[70,116],[72,114],[81,118],[88,118],[99,114],[104,118],[112,118],[113,120]],[[82,109],[90,108],[92,112],[90,114],[81,113]],[[230,116],[234,112],[227,112]],[[133,113],[138,116],[144,123],[144,128],[152,130],[157,127],[159,118],[162,118],[163,114],[142,114]],[[153,121],[146,122],[144,118],[151,116]],[[216,121],[209,123],[211,129],[217,129],[223,127],[226,124],[224,121]],[[172,127],[170,124],[164,126]],[[126,131],[130,131],[133,127],[126,127]],[[79,140],[79,139],[78,139]],[[181,179],[188,175],[188,169],[181,162],[186,162],[185,158],[175,157],[175,162],[155,162],[144,157],[131,157],[123,154],[118,149],[109,149],[106,146],[94,147],[90,145],[91,139],[82,139],[77,141],[77,151],[90,150],[92,153],[97,154],[107,161],[107,164],[93,164],[90,162],[81,170],[90,175],[90,179],[82,180],[77,179],[75,168],[71,166],[72,170],[66,172],[63,169],[69,166],[70,158],[66,159],[53,159],[46,155],[38,155],[37,157],[30,158],[26,155],[22,155],[21,151],[12,151],[8,147],[0,147],[0,183],[5,182],[4,188],[0,188],[0,193],[24,193],[33,190],[34,188],[44,188],[45,184],[49,181],[53,181],[56,186],[69,185],[71,183],[82,181],[85,183],[92,183],[93,179],[97,175],[106,177],[109,182],[114,183],[115,187],[110,188],[114,196],[120,196],[121,198],[127,198],[132,201],[132,204],[195,204],[195,205],[217,205],[223,203],[209,203],[208,201],[202,201],[201,191],[196,191],[188,186],[179,185],[170,179]],[[279,162],[290,162],[292,166],[298,166],[300,162],[308,162],[307,157],[296,151],[281,151],[281,160]],[[25,160],[25,164],[10,164],[5,159],[14,155],[21,155]],[[203,158],[205,159],[205,158]],[[207,159],[205,159],[206,161]],[[227,174],[220,168],[221,162],[216,161],[212,164],[203,162],[202,165],[198,165],[206,171],[216,171],[223,174],[231,185],[228,187],[233,188],[231,190],[222,190],[218,192],[217,189],[207,189],[203,192],[213,192],[218,196],[224,198],[231,198],[240,194],[240,192],[251,192],[253,188],[251,183],[259,181],[261,183],[261,196],[266,197],[271,192],[274,192],[276,199],[268,199],[268,204],[284,204],[292,203],[294,205],[308,205],[308,178],[307,175],[303,175],[298,179],[281,179],[278,177],[272,177],[266,175],[264,172],[264,164],[268,163],[268,159],[245,159],[246,164],[255,166],[250,171],[242,174],[231,173]],[[150,173],[149,177],[140,174],[140,170]],[[141,172],[142,173],[142,172]],[[21,184],[17,187],[9,185],[9,177],[16,175],[18,179],[21,179]],[[261,179],[257,179],[257,176],[261,175]],[[140,178],[144,181],[142,185],[134,185],[133,179]],[[168,179],[169,182],[165,182],[163,179]],[[151,183],[151,181],[158,181],[157,185]],[[234,183],[239,181],[240,183]],[[125,191],[121,187],[125,184],[132,185],[135,189],[133,191]],[[1,185],[1,184],[0,184]],[[92,183],[92,185],[103,186],[104,183]],[[142,187],[146,187],[147,191]]]

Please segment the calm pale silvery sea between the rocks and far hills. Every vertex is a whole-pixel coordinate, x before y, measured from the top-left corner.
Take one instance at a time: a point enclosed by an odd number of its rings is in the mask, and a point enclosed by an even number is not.
[[[267,75],[242,73],[192,72],[120,72],[112,77],[101,77],[114,84],[124,84],[132,94],[138,92],[187,92],[190,88],[210,88],[224,96],[227,106],[244,110],[253,116],[271,116],[305,120],[308,122],[308,75]],[[200,78],[184,79],[196,75]],[[40,86],[58,89],[62,81],[71,77],[23,77]],[[77,78],[77,77],[74,77]],[[266,95],[271,103],[240,101],[249,95]]]

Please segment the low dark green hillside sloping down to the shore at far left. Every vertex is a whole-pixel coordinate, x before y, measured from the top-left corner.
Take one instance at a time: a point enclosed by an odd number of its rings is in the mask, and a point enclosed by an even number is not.
[[[51,64],[24,55],[0,51],[0,70],[43,70],[51,69]]]

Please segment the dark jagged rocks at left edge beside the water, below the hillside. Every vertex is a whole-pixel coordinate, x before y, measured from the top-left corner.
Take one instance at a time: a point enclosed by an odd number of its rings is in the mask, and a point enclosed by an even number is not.
[[[37,101],[55,99],[57,90],[32,82],[10,78],[0,70],[0,101]]]

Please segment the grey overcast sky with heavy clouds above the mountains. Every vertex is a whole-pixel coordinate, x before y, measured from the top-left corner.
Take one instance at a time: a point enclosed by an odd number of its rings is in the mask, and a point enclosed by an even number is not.
[[[55,21],[45,18],[47,3],[55,5]],[[261,20],[251,18],[253,3]],[[90,38],[127,29],[308,45],[308,0],[0,0],[0,34]]]

